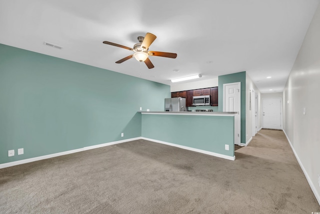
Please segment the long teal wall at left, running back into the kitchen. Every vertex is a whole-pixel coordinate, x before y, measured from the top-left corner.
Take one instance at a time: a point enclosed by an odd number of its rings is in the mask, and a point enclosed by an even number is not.
[[[168,85],[0,44],[0,163],[140,137],[139,107],[163,111],[167,97]]]

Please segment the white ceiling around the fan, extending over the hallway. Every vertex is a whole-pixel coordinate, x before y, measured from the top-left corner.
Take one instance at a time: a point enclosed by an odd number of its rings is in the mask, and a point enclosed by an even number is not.
[[[0,43],[167,85],[194,74],[207,80],[246,71],[261,93],[281,92],[318,4],[1,0]],[[157,36],[149,50],[177,53],[177,58],[150,56],[153,69],[134,58],[115,64],[132,52],[102,44],[133,48],[147,32]],[[44,41],[63,49],[44,46]]]

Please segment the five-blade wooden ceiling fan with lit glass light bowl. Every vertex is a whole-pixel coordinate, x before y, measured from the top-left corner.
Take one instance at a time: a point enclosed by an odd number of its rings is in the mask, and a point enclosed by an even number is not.
[[[123,45],[118,45],[115,43],[104,41],[103,43],[106,45],[112,45],[119,48],[124,48],[129,51],[133,51],[134,54],[124,57],[123,59],[120,59],[116,61],[115,63],[123,63],[124,61],[131,59],[134,57],[139,62],[144,62],[145,65],[150,69],[154,68],[153,64],[149,60],[149,56],[156,56],[156,57],[168,57],[168,58],[176,58],[176,54],[174,53],[167,53],[167,52],[158,52],[158,51],[148,51],[149,46],[152,44],[152,42],[156,39],[156,36],[150,33],[146,33],[145,37],[138,37],[137,38],[139,43],[135,44],[133,48],[129,48]]]

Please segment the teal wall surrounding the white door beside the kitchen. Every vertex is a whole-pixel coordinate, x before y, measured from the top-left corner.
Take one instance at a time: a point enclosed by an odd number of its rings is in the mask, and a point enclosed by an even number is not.
[[[241,83],[241,143],[245,142],[245,71],[218,76],[218,111],[223,111],[223,84]]]

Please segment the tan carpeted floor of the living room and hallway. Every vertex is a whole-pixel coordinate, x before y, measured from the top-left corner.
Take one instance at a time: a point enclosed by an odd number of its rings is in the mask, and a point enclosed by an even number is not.
[[[0,213],[320,211],[282,131],[261,130],[235,157],[136,140],[8,167]]]

